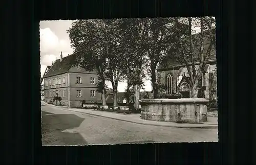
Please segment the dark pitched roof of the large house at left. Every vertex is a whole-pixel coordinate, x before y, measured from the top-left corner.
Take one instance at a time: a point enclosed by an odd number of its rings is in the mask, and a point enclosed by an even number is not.
[[[50,77],[68,72],[68,70],[71,68],[71,63],[73,62],[73,60],[75,60],[75,57],[75,54],[72,54],[67,57],[63,57],[62,61],[60,61],[60,59],[57,59],[44,77]]]

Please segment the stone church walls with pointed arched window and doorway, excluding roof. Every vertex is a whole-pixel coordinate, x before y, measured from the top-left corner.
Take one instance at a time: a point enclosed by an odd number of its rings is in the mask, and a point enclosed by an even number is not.
[[[198,65],[196,65],[198,67]],[[186,66],[174,65],[172,68],[158,68],[162,94],[181,93],[183,98],[191,97],[191,84]],[[216,60],[208,61],[199,82],[198,98],[217,100]]]

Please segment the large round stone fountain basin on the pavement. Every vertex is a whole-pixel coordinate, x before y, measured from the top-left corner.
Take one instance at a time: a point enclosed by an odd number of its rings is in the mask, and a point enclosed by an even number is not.
[[[141,119],[175,123],[207,122],[206,99],[142,99]]]

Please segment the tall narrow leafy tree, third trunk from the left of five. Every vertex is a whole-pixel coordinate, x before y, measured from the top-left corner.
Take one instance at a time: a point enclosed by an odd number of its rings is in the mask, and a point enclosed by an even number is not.
[[[145,38],[148,35],[148,26],[146,19],[124,19],[124,28],[122,29],[122,45],[126,53],[126,75],[127,96],[130,96],[130,87],[133,87],[132,97],[134,108],[139,109],[140,89],[144,86],[145,68],[147,59],[145,56],[146,43]],[[127,103],[130,102],[127,97]]]

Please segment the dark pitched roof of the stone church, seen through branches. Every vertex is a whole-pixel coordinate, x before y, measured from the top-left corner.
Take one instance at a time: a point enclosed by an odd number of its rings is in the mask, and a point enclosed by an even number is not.
[[[199,37],[200,37],[200,33],[194,34],[193,37],[198,38],[198,42],[200,42]],[[204,38],[204,52],[206,53],[208,47],[209,47],[209,43],[210,41],[206,38]],[[216,60],[216,56],[215,56],[215,51],[214,51],[214,55],[211,55],[208,57],[208,61],[210,60]],[[173,54],[177,54],[177,51],[172,50],[169,51],[167,53],[167,55],[164,57],[164,59],[162,60],[162,62],[160,63],[159,67],[157,69],[162,69],[162,68],[172,68],[175,66],[179,66],[179,65],[183,65],[183,63],[179,62],[178,60],[176,60],[176,58],[173,56]],[[194,58],[195,58],[195,62],[199,62],[199,50],[198,49],[194,49]],[[187,58],[188,62],[191,63],[190,58]]]

